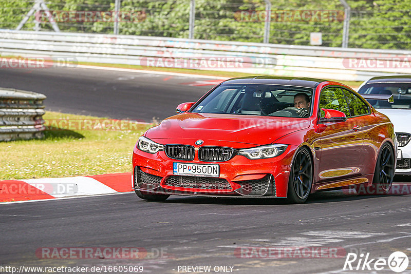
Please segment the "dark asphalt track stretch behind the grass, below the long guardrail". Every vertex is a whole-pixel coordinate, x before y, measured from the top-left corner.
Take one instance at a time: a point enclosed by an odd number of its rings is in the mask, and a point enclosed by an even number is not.
[[[203,78],[85,68],[0,69],[0,79],[0,87],[45,94],[46,110],[146,122],[212,88],[188,85]]]

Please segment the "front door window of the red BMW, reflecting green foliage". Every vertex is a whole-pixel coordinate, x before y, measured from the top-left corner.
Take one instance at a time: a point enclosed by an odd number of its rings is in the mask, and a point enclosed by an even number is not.
[[[347,101],[341,88],[331,87],[321,91],[320,109],[328,108],[344,112],[347,117],[350,116]]]

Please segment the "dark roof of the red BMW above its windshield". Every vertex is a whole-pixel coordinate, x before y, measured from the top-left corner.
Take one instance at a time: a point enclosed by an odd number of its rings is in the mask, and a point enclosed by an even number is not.
[[[318,83],[325,81],[327,80],[303,77],[260,75],[237,77],[229,79],[223,82],[223,84],[271,84],[314,88]]]

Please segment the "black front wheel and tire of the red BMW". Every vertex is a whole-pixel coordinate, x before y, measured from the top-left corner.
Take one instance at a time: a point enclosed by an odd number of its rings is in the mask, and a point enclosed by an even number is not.
[[[313,182],[313,164],[307,148],[301,148],[295,153],[288,180],[287,200],[293,204],[307,201]]]

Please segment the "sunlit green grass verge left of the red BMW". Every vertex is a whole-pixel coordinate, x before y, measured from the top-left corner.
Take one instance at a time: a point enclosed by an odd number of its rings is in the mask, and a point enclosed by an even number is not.
[[[101,119],[51,111],[43,118]],[[135,130],[51,128],[45,131],[43,140],[0,142],[0,180],[131,172],[133,147],[147,127],[137,125]]]

